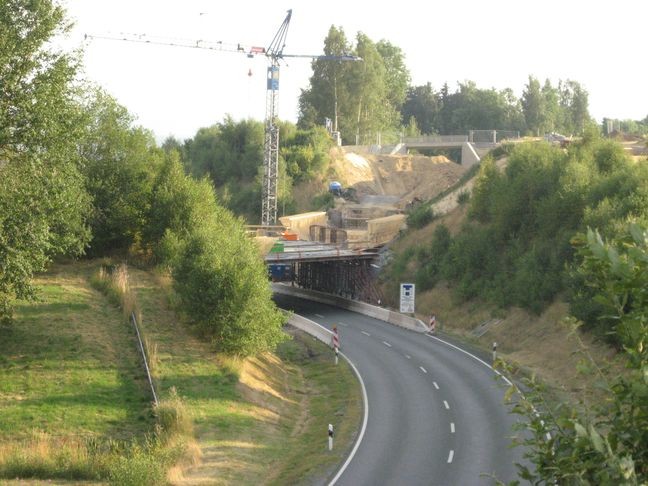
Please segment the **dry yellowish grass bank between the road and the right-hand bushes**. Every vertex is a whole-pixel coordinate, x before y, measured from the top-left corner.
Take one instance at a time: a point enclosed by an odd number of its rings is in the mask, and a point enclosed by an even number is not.
[[[508,158],[496,161],[498,170],[504,170]],[[419,251],[426,242],[433,240],[435,230],[446,226],[451,235],[459,233],[467,221],[468,205],[459,204],[459,195],[472,193],[476,176],[432,204],[438,217],[426,227],[410,230],[390,245],[392,254],[409,254]],[[413,275],[420,262],[409,262],[409,274]],[[408,269],[405,270],[405,274]],[[392,307],[398,306],[394,282],[383,282],[385,300]],[[591,377],[579,373],[579,364],[587,349],[601,365],[611,363],[614,369],[622,366],[623,357],[608,344],[591,333],[574,332],[567,324],[568,305],[559,296],[539,315],[518,307],[502,308],[479,298],[466,302],[457,300],[447,284],[441,282],[433,289],[417,289],[417,314],[427,320],[435,314],[443,332],[467,340],[484,351],[490,351],[497,343],[500,356],[535,373],[549,384],[559,396],[569,395],[573,401],[583,398],[583,391],[591,387]]]

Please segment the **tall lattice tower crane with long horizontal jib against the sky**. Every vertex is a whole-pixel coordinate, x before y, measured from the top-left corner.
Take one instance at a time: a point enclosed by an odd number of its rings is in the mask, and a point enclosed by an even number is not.
[[[208,49],[213,51],[238,52],[246,54],[248,57],[265,56],[270,60],[270,65],[268,66],[267,71],[266,111],[263,141],[263,182],[261,187],[262,226],[274,226],[277,223],[277,179],[279,173],[279,127],[277,126],[277,116],[279,111],[279,65],[281,61],[286,58],[305,58],[325,61],[362,60],[360,57],[351,55],[327,56],[318,54],[285,54],[283,50],[286,46],[288,26],[290,25],[291,17],[292,9],[288,10],[286,17],[267,48],[244,46],[241,44],[226,44],[221,41],[210,42],[186,39],[169,40],[138,34],[120,34],[119,36],[86,34],[87,39],[116,40],[153,45]]]

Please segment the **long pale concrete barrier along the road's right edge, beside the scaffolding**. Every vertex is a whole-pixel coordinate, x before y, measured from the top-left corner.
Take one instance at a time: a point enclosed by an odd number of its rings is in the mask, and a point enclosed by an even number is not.
[[[427,332],[428,327],[420,319],[415,317],[406,316],[399,312],[391,311],[383,307],[367,304],[365,302],[358,302],[356,300],[345,299],[337,295],[326,294],[324,292],[317,292],[316,290],[302,289],[299,287],[292,287],[281,283],[272,284],[273,292],[284,295],[292,295],[301,299],[312,300],[321,302],[323,304],[340,307],[352,312],[364,314],[374,319],[388,322],[395,326],[403,327],[415,332]]]

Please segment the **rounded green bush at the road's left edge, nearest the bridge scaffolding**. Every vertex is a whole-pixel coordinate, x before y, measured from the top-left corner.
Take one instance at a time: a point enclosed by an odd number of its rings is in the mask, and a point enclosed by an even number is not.
[[[172,269],[182,309],[220,351],[272,350],[284,339],[284,317],[272,302],[265,264],[240,222],[225,210],[218,221],[188,235]]]

